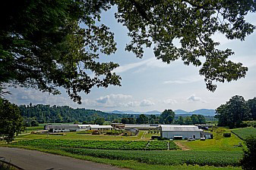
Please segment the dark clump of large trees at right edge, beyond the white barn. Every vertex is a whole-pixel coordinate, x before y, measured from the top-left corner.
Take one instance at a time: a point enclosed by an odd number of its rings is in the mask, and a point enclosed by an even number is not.
[[[231,97],[216,109],[216,118],[219,119],[219,126],[245,127],[242,121],[256,120],[256,97],[249,100],[239,95]]]

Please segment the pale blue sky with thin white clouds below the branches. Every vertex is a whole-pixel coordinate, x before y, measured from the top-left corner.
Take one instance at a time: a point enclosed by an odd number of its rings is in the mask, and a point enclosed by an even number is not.
[[[200,66],[185,66],[182,60],[170,64],[156,60],[153,49],[147,48],[144,57],[139,59],[131,52],[125,51],[129,43],[128,30],[114,17],[116,8],[103,12],[102,22],[115,32],[118,50],[110,56],[100,57],[100,61],[119,63],[115,73],[122,77],[122,86],[109,88],[92,88],[90,94],[81,93],[82,104],[74,103],[65,93],[52,95],[31,88],[8,88],[11,95],[5,98],[12,103],[49,104],[84,107],[86,109],[112,111],[134,110],[147,112],[166,109],[193,111],[198,109],[216,109],[225,104],[232,96],[242,95],[245,100],[256,97],[256,33],[247,36],[244,42],[227,40],[216,34],[213,39],[220,42],[220,49],[231,48],[235,55],[229,59],[248,66],[245,79],[235,82],[216,83],[216,91],[207,91],[204,77],[199,75]],[[247,20],[256,25],[256,17],[249,14]]]

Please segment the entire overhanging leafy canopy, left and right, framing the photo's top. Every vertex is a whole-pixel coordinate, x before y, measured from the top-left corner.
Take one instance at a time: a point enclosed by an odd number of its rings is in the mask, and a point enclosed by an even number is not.
[[[63,87],[81,103],[81,91],[120,85],[112,73],[119,65],[97,61],[116,51],[114,34],[97,24],[100,12],[112,5],[131,37],[126,50],[137,57],[153,48],[163,62],[201,66],[210,91],[216,89],[213,82],[245,77],[248,69],[230,61],[233,52],[218,49],[212,36],[244,40],[255,29],[245,21],[255,12],[254,0],[9,0],[0,15],[0,88],[8,83],[59,94],[57,87]]]

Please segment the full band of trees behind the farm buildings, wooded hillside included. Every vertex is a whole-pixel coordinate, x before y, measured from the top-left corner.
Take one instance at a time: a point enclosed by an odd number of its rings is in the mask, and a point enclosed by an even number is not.
[[[205,123],[205,117],[192,115],[182,117],[175,116],[172,110],[164,110],[160,115],[145,114],[113,114],[100,110],[86,110],[84,108],[73,109],[68,106],[55,106],[36,104],[21,105],[21,116],[27,126],[38,123],[83,122],[84,124],[102,125],[105,121],[122,122],[124,124],[181,124],[192,125]]]

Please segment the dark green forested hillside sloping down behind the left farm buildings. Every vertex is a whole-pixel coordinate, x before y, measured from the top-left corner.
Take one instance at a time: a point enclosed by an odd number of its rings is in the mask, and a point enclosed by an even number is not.
[[[111,114],[100,110],[86,110],[84,108],[73,109],[68,106],[50,106],[50,105],[21,105],[21,116],[25,119],[33,118],[37,122],[94,122],[95,119],[103,117],[105,120],[113,121],[124,117],[134,117],[136,115]]]

